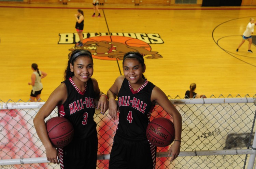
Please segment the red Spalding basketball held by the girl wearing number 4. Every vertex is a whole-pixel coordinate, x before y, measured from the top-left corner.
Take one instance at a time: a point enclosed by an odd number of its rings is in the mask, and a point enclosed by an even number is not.
[[[166,147],[174,141],[174,124],[164,117],[155,118],[148,124],[146,134],[154,146]]]

